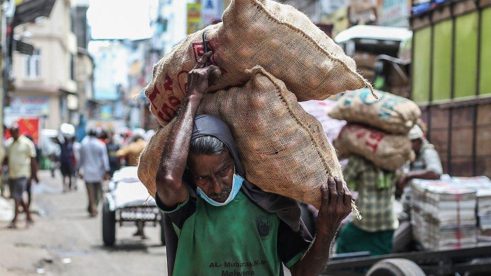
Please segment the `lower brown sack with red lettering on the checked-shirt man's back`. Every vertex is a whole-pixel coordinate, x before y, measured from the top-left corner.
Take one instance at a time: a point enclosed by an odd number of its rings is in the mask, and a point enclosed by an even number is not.
[[[358,124],[347,124],[334,140],[339,156],[358,154],[376,166],[395,171],[407,161],[414,160],[411,141],[403,134],[388,134]]]

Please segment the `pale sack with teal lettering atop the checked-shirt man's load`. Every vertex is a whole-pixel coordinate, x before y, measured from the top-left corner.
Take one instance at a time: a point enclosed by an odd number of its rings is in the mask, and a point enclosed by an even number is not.
[[[338,120],[373,126],[389,133],[407,134],[421,116],[415,102],[383,91],[369,89],[347,92],[329,116]]]

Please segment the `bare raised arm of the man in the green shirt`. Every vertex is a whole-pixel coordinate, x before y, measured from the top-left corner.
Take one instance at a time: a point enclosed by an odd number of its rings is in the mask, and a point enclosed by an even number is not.
[[[211,51],[205,53],[189,72],[184,102],[172,125],[169,126],[171,131],[163,146],[155,183],[157,195],[166,207],[172,208],[183,203],[187,198],[187,190],[182,178],[189,153],[194,117],[208,85],[214,84],[220,75],[217,66],[204,67],[211,54]]]

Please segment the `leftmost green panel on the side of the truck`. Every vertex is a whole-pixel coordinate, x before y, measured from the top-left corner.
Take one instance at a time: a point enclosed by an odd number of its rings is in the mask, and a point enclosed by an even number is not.
[[[430,95],[430,27],[414,32],[413,100],[425,103]]]

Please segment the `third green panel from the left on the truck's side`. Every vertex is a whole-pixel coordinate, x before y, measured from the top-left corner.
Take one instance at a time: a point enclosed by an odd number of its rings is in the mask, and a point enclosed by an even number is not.
[[[455,19],[455,98],[476,93],[477,19],[477,12]]]

